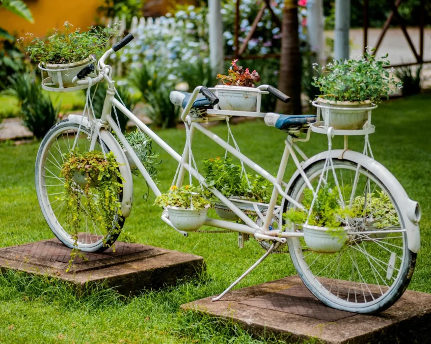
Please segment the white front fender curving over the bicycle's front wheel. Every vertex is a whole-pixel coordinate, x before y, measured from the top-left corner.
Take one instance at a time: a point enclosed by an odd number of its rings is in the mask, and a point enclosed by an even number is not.
[[[81,115],[69,115],[69,121],[81,124],[83,127],[91,128],[91,122],[87,117]],[[100,137],[102,141],[108,146],[108,149],[114,153],[115,160],[117,160],[121,176],[124,178],[123,182],[123,201],[121,202],[121,214],[128,217],[132,211],[133,204],[133,179],[132,172],[130,171],[129,161],[124,154],[120,144],[115,140],[108,130],[101,130]]]

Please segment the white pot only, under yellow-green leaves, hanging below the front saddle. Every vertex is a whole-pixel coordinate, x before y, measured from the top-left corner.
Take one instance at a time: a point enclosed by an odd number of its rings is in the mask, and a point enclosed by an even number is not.
[[[193,231],[201,228],[207,219],[207,212],[210,208],[208,204],[201,210],[184,209],[168,206],[169,221],[179,230]]]

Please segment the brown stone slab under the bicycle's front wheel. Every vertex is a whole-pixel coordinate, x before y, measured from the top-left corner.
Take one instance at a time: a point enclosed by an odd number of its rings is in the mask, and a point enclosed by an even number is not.
[[[27,271],[38,275],[53,275],[83,288],[87,282],[104,283],[122,294],[158,289],[189,279],[204,268],[199,256],[142,244],[117,241],[102,253],[85,253],[76,258],[70,269],[71,249],[58,239],[48,239],[24,245],[0,248],[0,269]]]

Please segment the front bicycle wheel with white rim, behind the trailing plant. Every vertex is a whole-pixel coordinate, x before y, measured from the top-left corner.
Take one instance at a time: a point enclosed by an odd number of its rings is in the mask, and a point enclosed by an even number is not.
[[[75,246],[75,239],[69,233],[68,216],[66,214],[66,200],[62,199],[65,195],[65,179],[60,176],[64,155],[69,153],[76,141],[76,147],[81,152],[87,152],[90,148],[91,133],[88,129],[81,127],[78,135],[79,125],[65,119],[50,129],[46,134],[36,158],[35,183],[36,193],[40,208],[45,220],[53,231],[54,235],[67,247],[78,248],[83,252],[102,252],[108,249],[121,232],[125,219],[118,211],[112,219],[112,228],[104,233],[92,217],[88,214],[88,200],[85,193],[81,192],[80,211],[79,211],[79,238]],[[102,151],[102,144],[98,140],[94,150]],[[104,144],[105,152],[108,148]],[[80,186],[77,184],[77,189]],[[122,200],[122,191],[118,194],[118,200]],[[95,211],[100,212],[97,207]]]

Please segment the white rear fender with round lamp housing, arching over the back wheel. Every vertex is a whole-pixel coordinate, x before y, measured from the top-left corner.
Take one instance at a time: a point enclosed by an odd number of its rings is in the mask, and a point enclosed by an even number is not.
[[[302,169],[306,170],[312,164],[320,160],[325,160],[327,156],[328,151],[312,156],[308,160],[302,162]],[[407,247],[410,251],[417,253],[421,247],[421,238],[418,224],[421,218],[421,208],[418,202],[409,199],[407,193],[397,178],[395,178],[394,175],[389,172],[382,164],[359,152],[334,149],[331,150],[331,157],[333,159],[352,161],[372,172],[380,181],[384,180],[386,182],[385,186],[388,188],[389,192],[394,198],[394,201],[396,201],[399,205],[403,218],[408,219],[408,221],[404,223],[407,234]],[[286,188],[287,192],[290,192],[291,187],[298,175],[299,171],[296,170],[289,180],[288,186]]]

